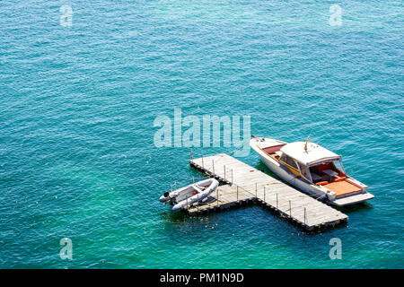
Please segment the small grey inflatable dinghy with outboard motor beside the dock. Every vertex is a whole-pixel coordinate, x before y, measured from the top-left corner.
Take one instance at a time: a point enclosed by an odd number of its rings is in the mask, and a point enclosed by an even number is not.
[[[218,186],[219,182],[215,178],[207,178],[187,187],[165,192],[160,197],[160,202],[173,205],[173,212],[188,209],[191,206],[206,201],[207,196],[214,192]]]

